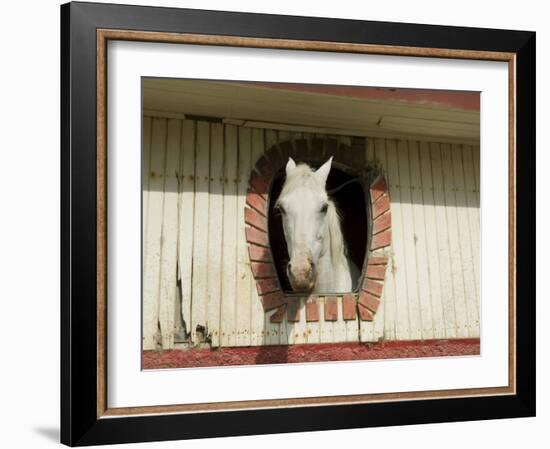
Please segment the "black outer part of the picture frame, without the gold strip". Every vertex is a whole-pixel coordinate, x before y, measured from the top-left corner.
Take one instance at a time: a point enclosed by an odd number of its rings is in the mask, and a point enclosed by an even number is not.
[[[96,29],[516,54],[516,382],[507,396],[97,418]],[[61,6],[61,442],[71,446],[535,415],[535,33],[153,8]]]

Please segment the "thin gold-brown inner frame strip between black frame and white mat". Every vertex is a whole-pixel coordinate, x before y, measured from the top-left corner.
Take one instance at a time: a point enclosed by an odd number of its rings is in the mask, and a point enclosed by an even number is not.
[[[344,396],[319,396],[251,401],[212,402],[138,407],[107,407],[107,42],[109,40],[218,45],[305,51],[328,51],[429,58],[472,59],[508,63],[508,385],[504,387],[426,390]],[[446,399],[513,395],[516,392],[516,54],[506,52],[454,50],[372,44],[247,38],[200,34],[160,33],[116,29],[97,30],[97,417],[167,413],[197,413],[242,409],[285,408],[297,406],[344,405],[421,399]]]

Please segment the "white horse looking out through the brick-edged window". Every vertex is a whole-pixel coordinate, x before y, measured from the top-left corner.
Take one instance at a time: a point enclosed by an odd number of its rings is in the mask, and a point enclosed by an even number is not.
[[[290,261],[287,275],[296,292],[344,293],[355,289],[359,270],[349,259],[340,218],[326,192],[332,157],[317,171],[286,165],[275,207],[280,211]]]

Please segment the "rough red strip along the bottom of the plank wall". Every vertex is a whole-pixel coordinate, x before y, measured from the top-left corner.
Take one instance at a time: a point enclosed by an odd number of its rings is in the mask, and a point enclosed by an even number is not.
[[[143,351],[144,369],[479,355],[479,339]]]

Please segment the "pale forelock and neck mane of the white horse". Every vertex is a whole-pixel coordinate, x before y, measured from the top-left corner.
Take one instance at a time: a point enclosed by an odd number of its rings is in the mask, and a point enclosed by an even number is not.
[[[279,199],[277,200],[275,205],[277,206],[279,204],[279,200],[283,198],[288,192],[294,190],[297,186],[316,185],[325,190],[325,186],[321,185],[317,178],[313,176],[314,173],[315,172],[309,165],[298,164],[296,168],[292,171],[292,173],[286,177],[283,188],[279,195]],[[327,220],[330,239],[330,256],[332,264],[336,265],[338,263],[345,262],[347,256],[347,248],[344,241],[344,236],[342,234],[342,228],[340,226],[340,213],[338,211],[338,208],[334,204],[334,201],[330,197],[328,198],[328,205]],[[344,260],[341,260],[341,258],[343,258]]]

